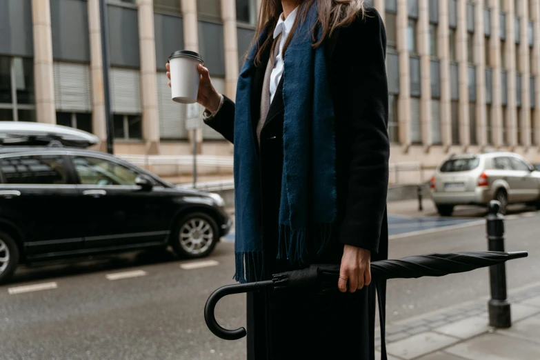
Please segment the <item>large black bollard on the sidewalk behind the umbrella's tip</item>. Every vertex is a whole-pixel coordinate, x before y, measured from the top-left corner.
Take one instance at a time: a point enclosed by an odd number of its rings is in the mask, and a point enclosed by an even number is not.
[[[492,200],[486,218],[488,230],[488,250],[504,251],[504,216],[499,213],[501,203]],[[490,326],[510,328],[510,301],[506,298],[506,268],[504,263],[490,267],[491,299],[488,302]]]

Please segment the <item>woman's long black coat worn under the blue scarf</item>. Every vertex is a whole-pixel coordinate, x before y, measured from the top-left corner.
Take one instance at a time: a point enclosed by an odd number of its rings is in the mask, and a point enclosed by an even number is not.
[[[390,146],[386,32],[381,17],[368,8],[364,19],[334,32],[324,46],[335,113],[337,222],[333,241],[313,262],[339,263],[343,244],[371,250],[373,261],[386,259]],[[252,74],[252,114],[260,112],[268,58],[266,49],[264,61]],[[275,260],[283,168],[282,89],[283,78],[261,131],[261,212],[267,277],[290,268],[288,263]],[[252,119],[254,129],[258,120],[258,116]],[[234,143],[234,103],[230,99],[225,99],[217,116],[207,123]],[[249,301],[256,316],[251,319],[254,323],[248,323],[248,343],[257,344],[256,360],[265,359],[263,356],[280,360],[374,359],[374,286],[355,294],[317,298],[266,294]],[[356,345],[351,346],[351,341]],[[298,346],[291,347],[291,342]]]

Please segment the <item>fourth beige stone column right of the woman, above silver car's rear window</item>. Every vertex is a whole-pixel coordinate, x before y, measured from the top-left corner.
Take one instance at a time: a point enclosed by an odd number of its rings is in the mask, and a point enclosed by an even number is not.
[[[467,81],[467,3],[457,1],[457,61],[459,66],[459,139],[461,146],[470,145],[469,88]]]

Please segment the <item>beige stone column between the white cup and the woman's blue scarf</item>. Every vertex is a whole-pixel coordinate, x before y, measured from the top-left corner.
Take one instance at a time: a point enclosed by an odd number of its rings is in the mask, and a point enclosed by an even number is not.
[[[221,0],[223,45],[225,47],[225,94],[236,98],[238,80],[237,8],[234,0]]]

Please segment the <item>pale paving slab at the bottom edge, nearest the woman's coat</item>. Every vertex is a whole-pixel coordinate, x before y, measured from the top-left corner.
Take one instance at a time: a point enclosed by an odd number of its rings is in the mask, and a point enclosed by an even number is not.
[[[448,335],[437,334],[436,332],[423,332],[407,339],[390,343],[386,349],[389,354],[409,360],[441,350],[457,341],[459,339],[449,337]]]

